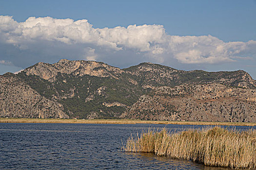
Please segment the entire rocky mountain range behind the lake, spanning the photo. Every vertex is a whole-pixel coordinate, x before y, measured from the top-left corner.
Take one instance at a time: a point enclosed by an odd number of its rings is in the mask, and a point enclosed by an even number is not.
[[[1,117],[256,121],[256,81],[242,70],[62,59],[1,75],[0,85]]]

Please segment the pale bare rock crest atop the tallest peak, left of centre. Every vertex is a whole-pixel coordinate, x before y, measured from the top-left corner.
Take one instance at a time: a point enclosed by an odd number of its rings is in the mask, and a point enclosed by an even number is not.
[[[96,77],[112,77],[119,79],[120,74],[124,71],[107,64],[95,61],[69,61],[66,59],[59,60],[58,63],[38,63],[24,70],[26,75],[36,75],[50,82],[56,81],[58,72],[61,74],[71,74],[74,76],[90,75]]]

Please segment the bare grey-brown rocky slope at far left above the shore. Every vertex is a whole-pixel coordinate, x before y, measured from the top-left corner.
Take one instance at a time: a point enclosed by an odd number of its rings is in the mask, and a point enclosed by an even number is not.
[[[16,75],[0,75],[0,117],[69,118],[63,105],[39,95]]]

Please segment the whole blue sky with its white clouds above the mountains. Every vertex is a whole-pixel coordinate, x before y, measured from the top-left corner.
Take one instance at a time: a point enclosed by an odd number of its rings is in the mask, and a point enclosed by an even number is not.
[[[141,62],[256,79],[256,0],[0,0],[0,74],[38,62]]]

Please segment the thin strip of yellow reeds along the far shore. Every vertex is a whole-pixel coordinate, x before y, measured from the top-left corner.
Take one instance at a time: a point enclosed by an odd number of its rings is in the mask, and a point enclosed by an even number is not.
[[[218,126],[256,126],[250,122],[207,122],[207,121],[159,121],[139,119],[29,119],[0,118],[0,123],[92,123],[92,124],[180,124],[180,125],[218,125]]]

